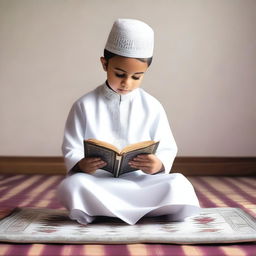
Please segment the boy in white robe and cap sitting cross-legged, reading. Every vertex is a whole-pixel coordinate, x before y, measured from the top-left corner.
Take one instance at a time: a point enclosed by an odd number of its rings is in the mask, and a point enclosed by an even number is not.
[[[129,224],[145,215],[168,214],[182,220],[199,209],[190,182],[181,174],[168,174],[177,146],[165,111],[139,88],[153,46],[154,32],[144,22],[115,21],[101,57],[107,81],[76,101],[69,113],[62,150],[71,175],[59,186],[58,196],[79,223],[100,215]],[[155,155],[138,155],[130,161],[138,171],[116,179],[101,170],[106,165],[101,159],[84,158],[83,140],[89,138],[120,149],[145,140],[160,143]]]

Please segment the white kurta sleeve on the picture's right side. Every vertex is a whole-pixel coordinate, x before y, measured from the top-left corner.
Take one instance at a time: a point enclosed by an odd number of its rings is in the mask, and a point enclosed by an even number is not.
[[[177,154],[177,145],[162,105],[159,105],[152,133],[154,140],[160,141],[156,156],[162,161],[165,173],[169,173]]]

